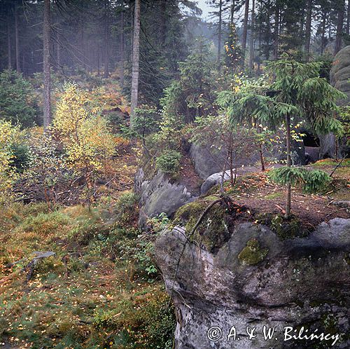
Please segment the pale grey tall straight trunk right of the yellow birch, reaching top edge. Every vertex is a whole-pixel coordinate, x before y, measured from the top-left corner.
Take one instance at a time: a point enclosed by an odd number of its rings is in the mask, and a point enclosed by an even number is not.
[[[134,8],[134,40],[132,42],[132,90],[130,125],[134,123],[134,112],[139,95],[139,60],[140,60],[140,15],[141,0],[135,0]]]

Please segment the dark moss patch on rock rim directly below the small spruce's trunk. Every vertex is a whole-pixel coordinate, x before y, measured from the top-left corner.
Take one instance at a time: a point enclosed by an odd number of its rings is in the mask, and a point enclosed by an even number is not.
[[[255,221],[271,228],[281,240],[304,238],[310,233],[307,228],[302,226],[302,222],[293,215],[286,219],[281,214],[260,213],[255,216]]]

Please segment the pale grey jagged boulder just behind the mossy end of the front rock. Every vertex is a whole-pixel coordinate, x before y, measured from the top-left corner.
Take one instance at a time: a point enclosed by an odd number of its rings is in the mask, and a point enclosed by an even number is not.
[[[172,217],[179,207],[197,198],[185,185],[171,181],[162,172],[157,172],[152,179],[146,179],[144,170],[139,168],[134,185],[135,192],[140,196],[140,226],[144,226],[148,218],[162,212]]]

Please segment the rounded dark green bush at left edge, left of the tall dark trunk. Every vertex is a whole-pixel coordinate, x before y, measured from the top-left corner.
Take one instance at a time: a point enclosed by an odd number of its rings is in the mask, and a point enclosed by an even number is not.
[[[0,73],[0,119],[20,124],[34,125],[38,106],[34,89],[29,81],[14,70]]]

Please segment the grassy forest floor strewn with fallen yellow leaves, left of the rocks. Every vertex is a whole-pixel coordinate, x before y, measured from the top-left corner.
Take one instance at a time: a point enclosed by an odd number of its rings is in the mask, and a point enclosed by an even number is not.
[[[0,209],[0,348],[171,348],[174,311],[137,228],[135,154],[123,160],[119,188],[92,210]]]

